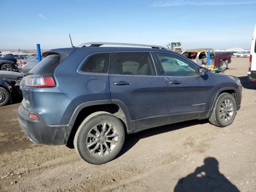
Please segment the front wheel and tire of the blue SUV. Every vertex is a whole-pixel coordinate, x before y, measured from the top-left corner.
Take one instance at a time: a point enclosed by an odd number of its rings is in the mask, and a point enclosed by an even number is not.
[[[218,97],[212,114],[209,118],[211,124],[226,127],[232,124],[236,116],[236,100],[229,93],[222,93]]]

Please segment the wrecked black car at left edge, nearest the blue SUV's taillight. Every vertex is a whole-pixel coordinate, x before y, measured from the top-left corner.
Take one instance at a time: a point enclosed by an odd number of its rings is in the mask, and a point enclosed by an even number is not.
[[[0,106],[5,106],[12,102],[14,97],[22,97],[20,90],[22,78],[22,73],[0,71]]]

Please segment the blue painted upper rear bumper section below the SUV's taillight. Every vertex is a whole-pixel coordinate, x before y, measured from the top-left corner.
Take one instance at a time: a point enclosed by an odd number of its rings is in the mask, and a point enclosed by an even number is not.
[[[31,88],[21,82],[22,106],[29,112],[42,116],[47,124],[68,124],[76,105],[62,93],[58,86],[54,88]]]

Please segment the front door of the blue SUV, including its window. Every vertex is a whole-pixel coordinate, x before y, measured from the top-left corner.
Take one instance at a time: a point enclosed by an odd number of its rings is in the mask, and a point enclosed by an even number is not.
[[[169,122],[207,116],[212,106],[212,85],[208,74],[200,76],[199,68],[177,54],[156,52],[168,78]]]

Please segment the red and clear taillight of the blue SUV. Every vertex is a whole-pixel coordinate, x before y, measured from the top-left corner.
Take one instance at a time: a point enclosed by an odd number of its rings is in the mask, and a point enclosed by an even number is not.
[[[25,77],[25,86],[27,87],[55,87],[56,83],[53,76],[32,75]]]

